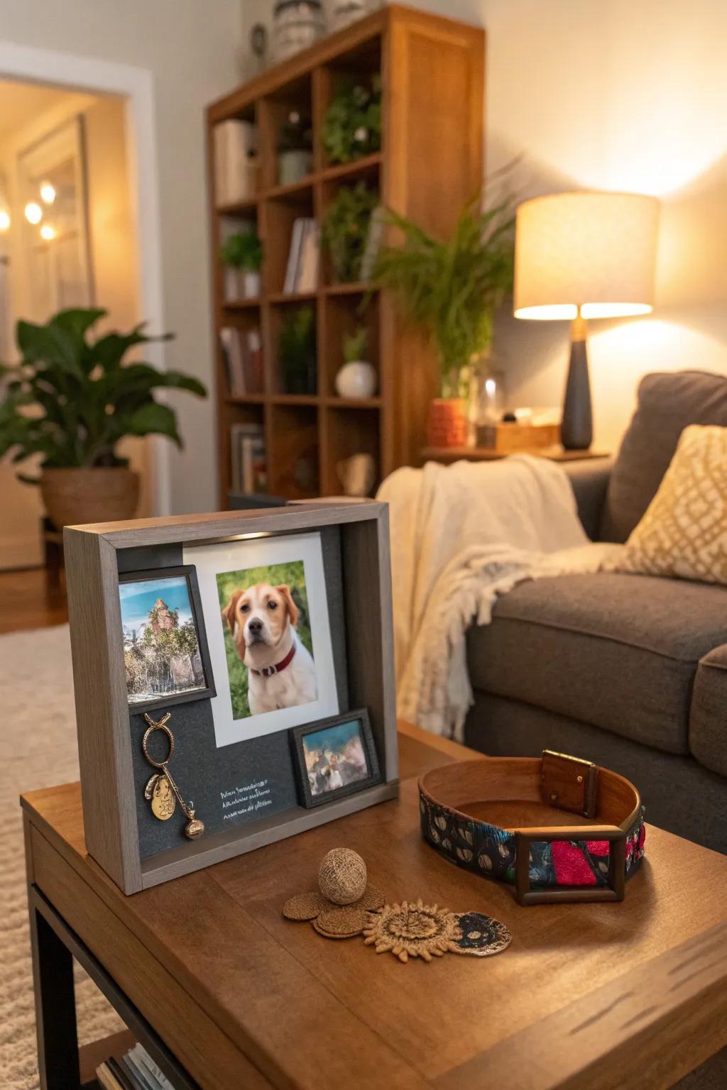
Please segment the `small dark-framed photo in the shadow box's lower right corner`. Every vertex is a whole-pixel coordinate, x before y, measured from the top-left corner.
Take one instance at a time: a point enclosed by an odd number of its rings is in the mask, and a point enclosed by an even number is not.
[[[366,708],[293,727],[291,738],[306,809],[381,782]]]

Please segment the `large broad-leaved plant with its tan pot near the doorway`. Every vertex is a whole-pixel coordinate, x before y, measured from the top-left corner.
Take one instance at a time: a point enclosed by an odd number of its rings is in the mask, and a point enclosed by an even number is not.
[[[101,310],[60,311],[45,325],[19,322],[21,362],[2,365],[0,457],[13,462],[39,457],[37,477],[46,510],[56,526],[132,518],[138,501],[138,474],[117,450],[125,436],[166,435],[179,447],[177,414],[156,401],[160,387],[207,391],[198,379],[149,363],[124,364],[137,344],[168,340],[147,337],[143,325],[128,334],[89,338]]]

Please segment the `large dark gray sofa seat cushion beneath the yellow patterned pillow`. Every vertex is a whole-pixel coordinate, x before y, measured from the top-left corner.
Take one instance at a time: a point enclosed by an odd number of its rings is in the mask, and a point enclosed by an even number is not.
[[[696,664],[727,643],[727,589],[603,572],[520,583],[468,633],[475,689],[689,752]]]

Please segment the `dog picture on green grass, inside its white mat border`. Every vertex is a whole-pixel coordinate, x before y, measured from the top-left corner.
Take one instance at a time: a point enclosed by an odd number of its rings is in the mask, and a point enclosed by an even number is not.
[[[219,572],[232,718],[318,699],[303,560]]]

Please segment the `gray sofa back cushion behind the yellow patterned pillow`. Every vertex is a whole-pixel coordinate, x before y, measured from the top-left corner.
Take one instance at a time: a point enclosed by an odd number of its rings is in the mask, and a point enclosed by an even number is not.
[[[599,538],[625,542],[656,495],[689,424],[727,427],[727,378],[704,371],[646,375],[608,482]]]

